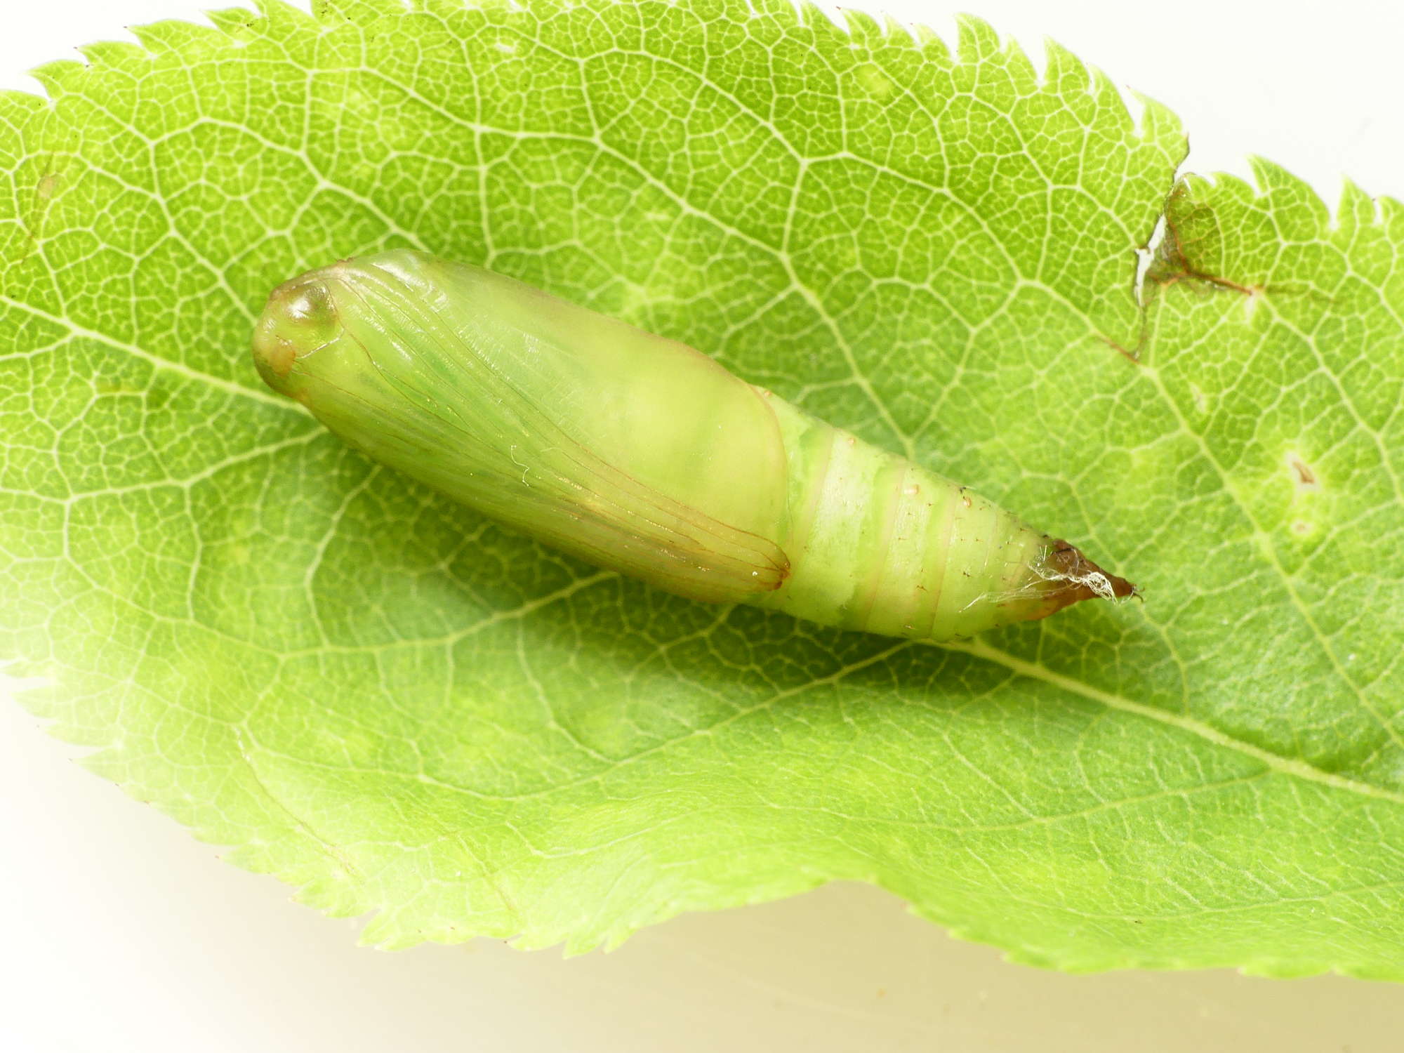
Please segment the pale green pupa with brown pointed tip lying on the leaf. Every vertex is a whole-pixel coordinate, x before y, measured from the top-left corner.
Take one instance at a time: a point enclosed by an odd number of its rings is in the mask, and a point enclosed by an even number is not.
[[[691,600],[922,640],[1133,587],[684,344],[409,250],[279,285],[268,385],[479,512]]]

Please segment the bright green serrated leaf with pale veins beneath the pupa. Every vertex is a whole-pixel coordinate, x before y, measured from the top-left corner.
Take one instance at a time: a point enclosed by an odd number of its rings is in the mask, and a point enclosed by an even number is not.
[[[90,767],[392,946],[878,882],[1063,969],[1404,979],[1404,211],[1179,183],[981,22],[279,3],[0,97],[0,657]],[[1165,237],[1137,285],[1139,247]],[[674,600],[260,388],[416,246],[715,352],[1144,588],[928,647]]]

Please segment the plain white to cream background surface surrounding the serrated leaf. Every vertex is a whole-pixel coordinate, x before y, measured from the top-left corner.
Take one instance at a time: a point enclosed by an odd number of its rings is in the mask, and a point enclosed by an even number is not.
[[[232,3],[232,0],[225,0]],[[219,6],[218,0],[211,6]],[[307,0],[302,0],[303,7]],[[1259,153],[1334,204],[1404,197],[1404,7],[1177,0],[862,0],[948,39],[973,10],[1175,110],[1188,168]],[[0,0],[0,87],[197,0]],[[15,10],[18,8],[18,10]],[[3,341],[3,334],[0,334]],[[483,941],[385,953],[70,762],[0,699],[0,1050],[1397,1053],[1404,986],[1236,973],[1070,977],[958,943],[834,886],[678,918],[563,960]],[[1400,949],[1404,958],[1404,948]]]

